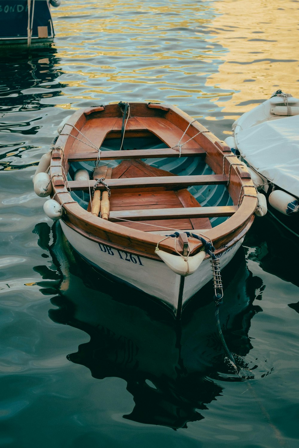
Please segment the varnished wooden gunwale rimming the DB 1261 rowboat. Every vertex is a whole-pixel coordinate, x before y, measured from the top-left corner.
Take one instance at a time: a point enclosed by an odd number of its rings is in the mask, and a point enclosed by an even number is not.
[[[165,107],[168,108],[168,110],[165,111],[156,108],[149,109],[146,107],[146,104],[143,103],[131,103],[130,105],[132,114],[134,111],[140,111],[140,116],[165,117],[166,119],[169,119],[171,123],[178,126],[178,128],[182,130],[182,134],[185,132],[188,124],[192,121],[192,119],[184,112],[181,112],[173,106]],[[64,204],[66,215],[63,219],[65,224],[77,230],[78,233],[88,235],[89,239],[92,239],[93,241],[100,240],[120,248],[130,248],[130,251],[137,251],[145,257],[153,258],[154,248],[157,242],[161,239],[160,235],[126,228],[119,224],[104,221],[99,217],[91,215],[89,212],[82,209],[77,202],[74,202],[67,190],[65,182],[63,181],[64,173],[61,165],[68,164],[68,157],[76,156],[76,154],[72,151],[74,139],[63,134],[71,134],[75,138],[79,133],[76,129],[74,129],[74,126],[76,126],[79,130],[82,130],[87,119],[89,120],[91,117],[95,118],[95,116],[100,117],[102,116],[101,114],[104,114],[103,116],[115,116],[115,110],[117,108],[117,105],[108,105],[105,111],[95,113],[91,112],[88,116],[84,115],[84,110],[79,110],[70,118],[56,142],[56,147],[61,146],[61,148],[64,149],[64,156],[62,154],[57,154],[57,151],[59,152],[59,150],[55,150],[56,154],[53,154],[55,157],[52,158],[51,178],[53,194],[55,194],[55,198],[58,202]],[[120,112],[119,115],[121,116]],[[195,134],[199,131],[201,133],[195,136]],[[228,176],[230,177],[228,190],[233,199],[234,205],[237,206],[238,202],[241,202],[241,205],[238,207],[238,210],[234,213],[234,215],[232,215],[224,223],[219,224],[217,227],[211,228],[205,232],[206,237],[213,241],[213,245],[218,250],[221,246],[229,244],[230,241],[239,239],[238,236],[244,231],[244,229],[248,229],[248,226],[251,225],[252,214],[256,209],[257,202],[256,195],[254,194],[255,189],[246,168],[240,166],[238,159],[232,156],[229,148],[225,147],[220,140],[218,140],[212,133],[205,129],[204,126],[200,125],[196,121],[190,125],[186,132],[186,138],[191,137],[194,137],[193,140],[191,140],[192,146],[194,146],[194,142],[196,142],[201,148],[205,149],[207,154],[206,161],[216,173],[215,176],[222,176],[223,183],[225,183],[224,176],[226,178]],[[230,157],[226,157],[223,162],[223,158],[227,155]],[[179,178],[182,178],[182,176]],[[190,177],[188,178],[190,181]],[[145,179],[150,179],[150,181],[152,181],[153,178],[142,178],[143,185]],[[120,181],[120,179],[109,180],[109,182],[113,181]],[[126,181],[130,183],[130,179],[127,179]],[[176,181],[178,182],[178,178]],[[69,182],[69,184],[72,184],[72,182],[74,181]],[[92,185],[92,181],[90,184]],[[76,185],[74,185],[74,187],[75,186]],[[88,183],[86,186],[88,188]],[[199,241],[191,241],[190,246],[191,254],[195,254],[200,250],[202,244]],[[175,253],[174,241],[171,238],[161,242],[160,248],[168,252]]]

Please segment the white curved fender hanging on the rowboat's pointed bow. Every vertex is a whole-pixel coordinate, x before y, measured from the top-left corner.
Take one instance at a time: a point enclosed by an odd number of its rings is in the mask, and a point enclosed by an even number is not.
[[[206,256],[204,250],[201,250],[198,254],[188,258],[169,254],[160,249],[156,249],[155,254],[157,254],[173,272],[183,277],[191,276]]]

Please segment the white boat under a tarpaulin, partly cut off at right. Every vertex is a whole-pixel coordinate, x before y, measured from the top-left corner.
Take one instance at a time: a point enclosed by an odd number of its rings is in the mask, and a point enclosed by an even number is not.
[[[299,235],[299,99],[277,90],[233,124],[225,142],[248,166],[270,214]]]

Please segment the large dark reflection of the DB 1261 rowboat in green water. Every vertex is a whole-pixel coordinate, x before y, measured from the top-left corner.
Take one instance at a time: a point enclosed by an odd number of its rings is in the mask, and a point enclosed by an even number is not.
[[[59,224],[54,224],[52,232],[53,243],[49,246],[48,224],[35,226],[39,246],[49,250],[62,277],[58,294],[51,299],[58,309],[49,310],[49,316],[56,323],[90,335],[88,343],[67,356],[71,362],[88,367],[94,378],[126,380],[135,406],[124,418],[174,429],[186,427],[187,422],[204,418],[198,410],[207,409],[205,404],[221,394],[215,379],[242,380],[225,361],[211,283],[199,291],[200,301],[191,300],[181,320],[175,320],[149,296],[105,279],[69,250],[66,242],[61,244],[64,237]],[[234,260],[223,272],[227,286],[220,320],[238,366],[243,363],[246,368],[243,357],[252,348],[248,337],[251,318],[261,310],[252,302],[261,280],[248,271],[242,250]],[[55,279],[55,274],[51,277],[46,270],[45,266],[35,267],[43,278]],[[51,282],[39,285],[48,287]],[[251,375],[251,370],[247,372]]]

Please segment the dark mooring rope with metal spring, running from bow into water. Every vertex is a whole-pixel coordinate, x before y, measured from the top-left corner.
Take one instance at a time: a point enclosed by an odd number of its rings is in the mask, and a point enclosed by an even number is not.
[[[210,262],[212,264],[213,283],[214,283],[213,299],[214,299],[214,302],[216,305],[216,310],[215,310],[216,326],[217,326],[218,334],[219,334],[223,349],[226,353],[226,356],[230,360],[230,363],[234,367],[234,370],[237,374],[238,367],[236,366],[236,364],[234,362],[233,355],[230,353],[230,350],[229,350],[228,346],[226,345],[226,342],[225,342],[225,339],[224,339],[224,336],[223,336],[223,333],[221,330],[220,320],[219,320],[219,306],[223,303],[223,300],[222,300],[223,299],[223,285],[222,285],[221,272],[220,272],[220,267],[219,267],[220,260],[214,254],[215,247],[212,245],[212,242],[206,241],[203,237],[200,237],[199,235],[196,235],[195,233],[191,233],[191,232],[184,232],[184,233],[186,233],[188,238],[192,237],[192,238],[195,238],[195,239],[201,241],[202,244],[204,245],[205,253],[210,255],[210,257],[212,258],[212,260],[210,260]],[[167,235],[167,236],[168,237],[178,237],[179,233],[174,232],[173,234]]]

